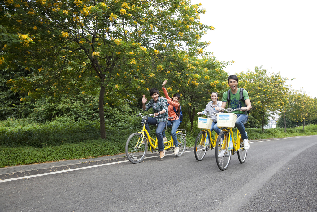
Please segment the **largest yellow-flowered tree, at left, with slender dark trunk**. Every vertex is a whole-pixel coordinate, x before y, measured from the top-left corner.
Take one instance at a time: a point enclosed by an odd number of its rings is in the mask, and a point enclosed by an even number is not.
[[[199,38],[213,27],[199,22],[204,12],[199,6],[182,0],[5,1],[0,3],[0,23],[6,31],[0,48],[8,45],[2,56],[14,59],[10,65],[34,70],[17,88],[29,97],[47,92],[58,96],[77,82],[98,85],[105,139],[105,95],[126,98],[140,88],[142,76],[154,76],[151,69],[158,58],[182,49],[199,54],[206,47]],[[10,43],[10,35],[18,36],[20,43]]]

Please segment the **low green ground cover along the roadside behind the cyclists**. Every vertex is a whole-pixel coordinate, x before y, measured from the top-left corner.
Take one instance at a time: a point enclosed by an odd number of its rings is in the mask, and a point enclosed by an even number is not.
[[[51,125],[50,125],[51,126]],[[57,132],[59,133],[59,138],[63,138],[63,129],[67,130],[67,125],[55,125],[57,127]],[[91,126],[87,125],[76,125],[77,127],[81,127],[81,129],[89,128],[89,132],[91,132]],[[2,126],[2,130],[4,126]],[[12,126],[10,126],[12,127]],[[66,127],[66,128],[65,128]],[[0,127],[1,128],[1,127]],[[31,129],[32,127],[26,127],[25,129]],[[46,130],[41,131],[41,127],[32,128],[34,131],[15,131],[15,133],[7,133],[6,135],[11,135],[14,138],[18,138],[21,135],[30,135],[30,132],[42,132],[45,134],[47,131],[51,131],[52,128],[47,127]],[[74,129],[74,128],[72,128]],[[6,129],[7,130],[7,129]],[[75,130],[75,129],[74,129]],[[94,131],[94,130],[92,130]],[[236,132],[236,129],[234,130]],[[305,131],[302,131],[302,127],[296,128],[287,128],[286,133],[284,133],[284,128],[270,128],[264,129],[256,129],[256,128],[248,128],[246,129],[248,133],[249,140],[258,140],[258,139],[270,139],[270,138],[282,138],[282,137],[292,137],[292,136],[302,136],[302,135],[317,135],[317,125],[308,125],[305,127]],[[24,132],[24,133],[21,133]],[[28,132],[28,133],[25,133]],[[76,131],[77,132],[77,131]],[[82,132],[81,132],[82,133]],[[113,133],[113,134],[111,134]],[[133,129],[129,130],[121,130],[115,131],[111,130],[107,133],[107,140],[101,139],[91,139],[91,140],[79,140],[78,136],[76,136],[75,142],[72,141],[71,135],[67,135],[67,139],[65,142],[55,142],[55,145],[38,145],[41,147],[35,147],[36,145],[30,146],[27,145],[27,138],[24,137],[25,142],[24,145],[18,145],[17,142],[13,142],[14,139],[11,137],[11,142],[9,144],[14,145],[5,145],[3,143],[0,145],[0,167],[6,166],[15,166],[15,165],[23,165],[23,164],[32,164],[39,162],[47,162],[47,161],[59,161],[59,160],[72,160],[72,159],[80,159],[80,158],[91,158],[98,157],[104,155],[113,155],[125,152],[125,144],[129,135],[133,133]],[[46,133],[48,134],[48,133]],[[52,134],[52,133],[51,133]],[[168,135],[169,133],[166,133]],[[30,135],[32,137],[32,133]],[[38,140],[41,144],[47,144],[47,141],[41,141],[39,139],[40,134],[36,133],[34,138]],[[192,147],[195,144],[196,133],[187,133],[186,135],[186,146]],[[212,133],[212,137],[214,137],[214,132]],[[30,137],[29,137],[30,138]],[[50,138],[49,136],[43,136],[44,139]],[[55,138],[53,140],[56,140]],[[21,139],[20,139],[21,141]],[[35,141],[34,141],[35,142]],[[33,142],[31,142],[33,144]]]

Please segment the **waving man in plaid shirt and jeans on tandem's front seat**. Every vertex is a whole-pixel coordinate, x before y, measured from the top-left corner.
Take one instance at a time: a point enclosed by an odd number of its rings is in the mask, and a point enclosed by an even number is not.
[[[150,134],[149,124],[154,126],[156,124],[158,125],[158,127],[156,128],[155,134],[159,143],[159,158],[163,158],[165,155],[165,150],[164,150],[164,144],[163,144],[162,131],[165,129],[166,120],[168,118],[168,113],[167,113],[168,103],[164,97],[159,96],[159,90],[156,88],[150,89],[150,95],[152,99],[147,104],[145,104],[147,102],[145,95],[143,94],[142,96],[143,110],[148,110],[150,108],[153,108],[153,111],[154,111],[154,118],[149,117],[148,120],[146,120],[145,128],[147,132]]]

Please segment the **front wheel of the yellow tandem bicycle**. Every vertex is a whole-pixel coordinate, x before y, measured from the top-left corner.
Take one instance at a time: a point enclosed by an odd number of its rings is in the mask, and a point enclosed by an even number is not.
[[[147,139],[141,133],[133,133],[126,141],[126,157],[132,163],[139,163],[147,151]]]

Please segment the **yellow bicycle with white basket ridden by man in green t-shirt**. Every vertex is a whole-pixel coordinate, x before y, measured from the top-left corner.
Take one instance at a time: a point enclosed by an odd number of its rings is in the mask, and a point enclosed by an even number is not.
[[[242,109],[227,108],[221,110],[228,113],[217,113],[217,126],[219,128],[223,128],[223,131],[221,131],[218,135],[216,142],[216,161],[218,168],[224,171],[229,166],[231,154],[235,154],[237,152],[240,163],[244,163],[247,158],[248,150],[245,150],[243,147],[243,141],[239,130],[237,130],[236,140],[234,140],[232,131],[232,128],[235,127],[236,123],[236,114],[232,112]],[[218,157],[218,154],[222,151],[224,152],[224,156]]]

